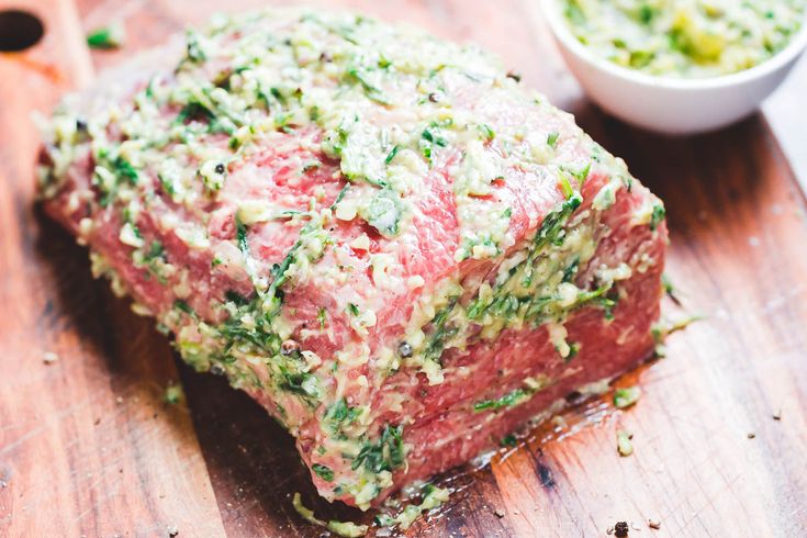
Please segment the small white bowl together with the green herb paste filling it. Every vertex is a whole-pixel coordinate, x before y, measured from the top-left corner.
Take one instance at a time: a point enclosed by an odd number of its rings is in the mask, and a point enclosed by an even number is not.
[[[806,0],[541,0],[589,97],[640,127],[691,134],[753,114],[807,48]]]

